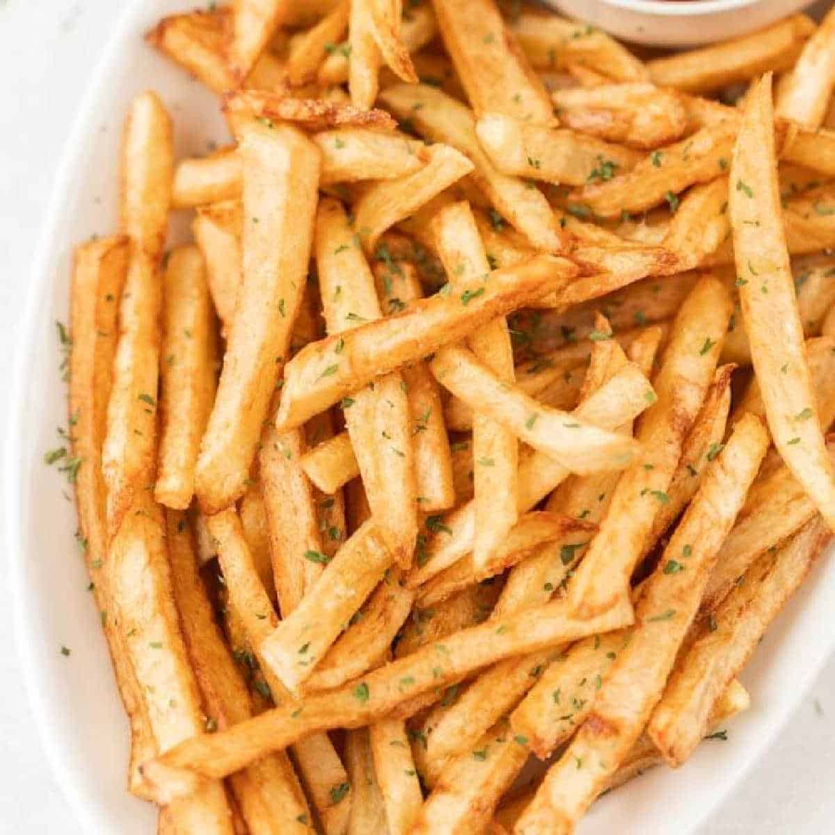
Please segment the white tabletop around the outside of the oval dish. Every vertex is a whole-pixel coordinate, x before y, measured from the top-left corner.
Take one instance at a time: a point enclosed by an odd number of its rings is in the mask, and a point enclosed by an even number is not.
[[[8,391],[15,352],[26,350],[16,341],[18,311],[63,139],[99,53],[128,2],[0,0],[0,390]],[[6,425],[5,409],[0,409],[0,438]],[[14,556],[7,554],[7,559]],[[3,583],[6,570],[6,560],[0,561],[0,588],[8,588]],[[822,629],[831,628],[822,624]],[[0,832],[81,835],[33,726],[8,605],[0,605],[0,635]],[[733,744],[732,733],[726,744]],[[833,832],[833,785],[835,659],[767,757],[700,835]]]

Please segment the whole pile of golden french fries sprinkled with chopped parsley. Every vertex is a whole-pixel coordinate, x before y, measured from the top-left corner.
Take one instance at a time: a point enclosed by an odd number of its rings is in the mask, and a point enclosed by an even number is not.
[[[130,104],[50,458],[159,832],[567,833],[681,765],[835,526],[835,13],[649,60],[493,0],[147,37],[234,139]]]

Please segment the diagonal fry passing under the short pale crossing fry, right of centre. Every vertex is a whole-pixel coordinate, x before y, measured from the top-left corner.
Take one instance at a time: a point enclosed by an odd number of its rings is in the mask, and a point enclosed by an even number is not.
[[[581,402],[572,412],[601,428],[617,428],[649,406],[652,389],[634,365],[628,365],[605,386]],[[519,459],[519,512],[527,513],[569,475],[568,470],[545,453],[531,452]],[[425,561],[407,578],[407,585],[417,588],[439,571],[463,558],[473,549],[475,513],[473,503],[444,514],[436,533],[427,543]],[[420,562],[420,561],[419,561]]]

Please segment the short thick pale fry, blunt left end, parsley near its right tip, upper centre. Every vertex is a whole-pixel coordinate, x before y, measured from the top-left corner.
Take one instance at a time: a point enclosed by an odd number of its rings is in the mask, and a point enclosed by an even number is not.
[[[616,171],[630,170],[642,158],[638,151],[572,130],[523,122],[498,113],[486,113],[476,124],[482,148],[503,174],[585,185],[609,180]]]

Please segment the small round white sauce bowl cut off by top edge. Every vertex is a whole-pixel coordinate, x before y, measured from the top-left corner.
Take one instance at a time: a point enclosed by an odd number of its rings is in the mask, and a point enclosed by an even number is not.
[[[659,47],[695,46],[768,26],[812,0],[545,0],[617,38]]]

